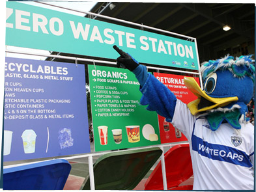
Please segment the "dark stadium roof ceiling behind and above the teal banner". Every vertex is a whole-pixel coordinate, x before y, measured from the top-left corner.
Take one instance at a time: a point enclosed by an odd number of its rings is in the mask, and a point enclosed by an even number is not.
[[[255,4],[99,2],[91,12],[196,38],[200,62],[218,59],[228,53],[235,57],[255,53]],[[85,17],[139,29],[135,25],[99,16],[87,14]],[[229,25],[231,30],[223,31],[224,25]],[[149,29],[143,30],[171,36]],[[71,55],[56,52],[51,54]],[[90,58],[83,55],[72,56]],[[70,62],[57,58],[47,60]]]

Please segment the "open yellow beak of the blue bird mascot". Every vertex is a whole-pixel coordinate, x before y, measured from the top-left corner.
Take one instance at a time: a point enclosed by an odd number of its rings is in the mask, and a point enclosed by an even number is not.
[[[238,100],[238,97],[229,97],[229,98],[212,98],[206,94],[205,91],[201,90],[199,85],[197,84],[197,81],[193,77],[184,77],[184,84],[186,87],[193,92],[195,96],[197,96],[197,100],[194,100],[190,103],[188,103],[188,108],[190,109],[190,112],[192,115],[196,115],[197,113],[201,111],[207,111],[209,109],[214,109],[215,107],[223,107],[225,105],[228,105],[231,102],[235,102]],[[199,104],[201,97],[205,98],[206,100],[213,103],[211,106],[203,107],[202,109],[198,109],[197,105]]]

